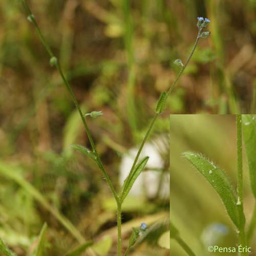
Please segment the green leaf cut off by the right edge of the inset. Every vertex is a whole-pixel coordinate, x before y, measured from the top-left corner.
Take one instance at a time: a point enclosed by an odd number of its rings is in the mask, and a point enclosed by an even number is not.
[[[248,160],[251,189],[256,198],[256,118],[253,115],[242,115],[242,130]]]

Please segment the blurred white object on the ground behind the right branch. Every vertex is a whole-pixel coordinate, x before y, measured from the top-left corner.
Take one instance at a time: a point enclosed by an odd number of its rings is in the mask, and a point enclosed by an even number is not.
[[[164,139],[166,140],[166,138]],[[160,180],[162,171],[151,170],[151,168],[164,168],[164,161],[159,153],[158,147],[161,148],[161,150],[166,150],[166,146],[163,143],[163,138],[161,137],[155,141],[145,143],[137,163],[139,163],[139,161],[145,156],[150,157],[145,166],[147,170],[143,171],[139,175],[129,195],[136,197],[146,196],[147,198],[155,198],[157,196],[159,183],[161,182]],[[138,148],[133,147],[127,152],[127,154],[122,157],[119,173],[120,186],[123,185],[124,180],[129,175],[137,152]],[[162,184],[159,190],[159,197],[169,197],[169,172],[165,172],[163,174]]]

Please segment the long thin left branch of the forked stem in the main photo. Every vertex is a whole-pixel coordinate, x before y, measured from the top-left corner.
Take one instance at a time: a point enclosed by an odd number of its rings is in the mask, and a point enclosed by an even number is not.
[[[53,54],[53,52],[51,51],[50,46],[49,46],[48,43],[46,42],[44,36],[42,35],[42,33],[41,33],[41,31],[40,31],[40,29],[39,29],[39,27],[38,27],[38,25],[37,25],[37,22],[36,22],[36,20],[35,20],[35,17],[33,16],[33,14],[32,14],[32,12],[31,12],[29,6],[27,5],[27,3],[26,3],[25,0],[22,0],[22,3],[23,3],[23,6],[24,6],[25,10],[27,11],[27,13],[28,13],[28,15],[29,15],[29,17],[30,17],[30,21],[31,21],[32,24],[35,26],[36,32],[37,32],[37,34],[38,34],[38,36],[39,36],[39,38],[40,38],[42,44],[45,46],[45,48],[46,48],[47,52],[49,53],[50,57],[54,57],[54,54]],[[90,130],[89,130],[89,127],[88,127],[88,125],[87,125],[86,119],[84,118],[84,116],[83,116],[83,114],[82,114],[82,111],[81,111],[80,106],[79,106],[79,104],[78,104],[78,102],[77,102],[77,99],[76,99],[76,97],[75,97],[75,95],[74,95],[74,93],[73,93],[73,90],[72,90],[72,88],[71,88],[71,86],[70,86],[70,83],[69,83],[69,81],[66,79],[65,75],[63,74],[63,72],[62,72],[62,70],[61,70],[61,67],[60,67],[60,65],[59,65],[58,62],[55,63],[55,67],[56,67],[56,69],[58,70],[58,72],[59,72],[59,74],[60,74],[60,76],[61,76],[63,82],[65,83],[65,86],[66,86],[66,88],[68,89],[68,91],[69,91],[69,93],[70,93],[70,95],[71,95],[71,97],[72,97],[72,100],[74,101],[74,104],[75,104],[75,106],[76,106],[76,109],[77,109],[78,112],[79,112],[79,115],[80,115],[80,117],[81,117],[81,119],[82,119],[82,123],[83,123],[84,129],[86,130],[86,133],[87,133],[87,136],[88,136],[89,141],[90,141],[90,143],[91,143],[93,152],[94,152],[94,154],[95,154],[95,156],[96,156],[96,158],[97,158],[98,166],[99,166],[99,168],[100,168],[100,170],[101,170],[101,172],[102,172],[102,174],[103,174],[103,176],[104,176],[106,182],[108,183],[108,185],[109,185],[109,187],[110,187],[110,190],[111,190],[113,196],[115,197],[115,200],[116,200],[116,201],[119,201],[119,198],[118,198],[118,196],[117,196],[117,194],[116,194],[116,191],[115,191],[114,186],[113,186],[113,184],[112,184],[112,182],[111,182],[111,180],[110,180],[110,177],[109,177],[109,175],[106,173],[106,171],[105,171],[105,169],[104,169],[104,167],[103,167],[103,164],[102,164],[102,162],[101,162],[101,159],[100,159],[100,157],[99,157],[99,155],[98,155],[98,152],[97,152],[97,149],[96,149],[94,140],[93,140],[93,138],[92,138],[91,132],[90,132]]]

